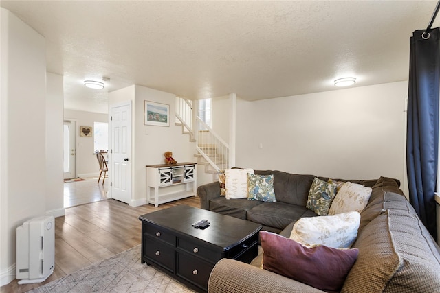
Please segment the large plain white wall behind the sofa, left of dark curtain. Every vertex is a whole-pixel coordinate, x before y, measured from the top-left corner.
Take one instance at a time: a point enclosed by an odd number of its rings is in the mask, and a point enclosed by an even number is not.
[[[407,82],[237,103],[236,165],[403,182]],[[262,145],[263,148],[260,148]]]

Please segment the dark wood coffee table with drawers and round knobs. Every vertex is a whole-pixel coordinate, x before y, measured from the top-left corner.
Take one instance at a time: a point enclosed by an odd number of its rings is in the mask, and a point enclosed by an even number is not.
[[[192,223],[206,219],[210,226]],[[180,205],[141,215],[141,261],[153,264],[199,292],[208,290],[215,263],[222,258],[250,263],[259,253],[260,224]]]

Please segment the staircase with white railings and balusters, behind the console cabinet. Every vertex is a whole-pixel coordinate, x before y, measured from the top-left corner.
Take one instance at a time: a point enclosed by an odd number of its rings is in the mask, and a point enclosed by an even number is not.
[[[200,117],[193,123],[192,101],[176,97],[176,125],[182,127],[182,133],[196,142],[197,164],[205,166],[208,174],[217,174],[229,167],[229,146]],[[192,128],[195,124],[195,129]],[[196,134],[196,135],[195,135]]]

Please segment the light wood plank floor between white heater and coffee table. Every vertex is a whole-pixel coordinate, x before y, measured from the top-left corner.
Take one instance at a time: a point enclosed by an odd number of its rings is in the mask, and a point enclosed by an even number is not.
[[[17,279],[0,292],[27,292],[80,268],[107,259],[141,242],[140,215],[179,204],[200,207],[192,196],[175,202],[129,207],[117,200],[103,200],[65,209],[65,216],[55,219],[55,270],[43,283],[19,285]]]

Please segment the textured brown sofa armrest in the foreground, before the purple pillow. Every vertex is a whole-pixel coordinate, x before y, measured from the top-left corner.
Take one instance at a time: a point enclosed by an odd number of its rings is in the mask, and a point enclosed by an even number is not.
[[[221,259],[212,269],[208,293],[316,293],[324,292],[234,259]]]

